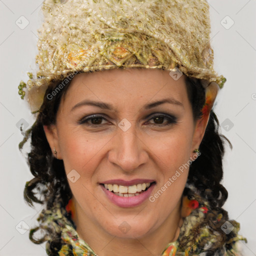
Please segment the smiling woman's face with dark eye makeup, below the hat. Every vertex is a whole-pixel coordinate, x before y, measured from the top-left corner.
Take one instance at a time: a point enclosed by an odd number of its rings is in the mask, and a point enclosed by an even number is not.
[[[138,68],[73,78],[56,124],[44,130],[63,159],[78,220],[139,237],[173,219],[187,180],[184,166],[205,129],[193,119],[184,78]]]

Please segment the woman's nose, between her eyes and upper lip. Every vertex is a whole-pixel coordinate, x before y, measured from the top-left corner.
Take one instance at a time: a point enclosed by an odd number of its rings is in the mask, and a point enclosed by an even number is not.
[[[147,147],[143,140],[141,133],[136,132],[134,124],[126,131],[118,127],[108,160],[125,172],[138,169],[148,160]]]

